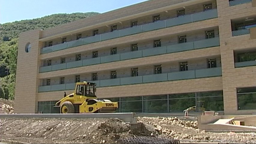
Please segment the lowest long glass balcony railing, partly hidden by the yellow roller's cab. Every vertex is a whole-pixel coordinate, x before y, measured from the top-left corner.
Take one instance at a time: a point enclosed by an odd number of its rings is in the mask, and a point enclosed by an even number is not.
[[[152,75],[145,75],[145,76],[104,79],[104,80],[97,80],[92,82],[95,82],[97,87],[107,87],[107,86],[131,85],[131,84],[139,84],[139,83],[173,81],[173,80],[182,80],[182,79],[196,79],[196,78],[213,77],[213,76],[221,76],[221,75],[222,75],[221,67],[215,67],[215,68],[208,68],[208,69],[178,71],[178,72],[172,72],[172,73],[161,73],[161,74],[152,74]],[[38,92],[74,90],[74,88],[75,88],[75,83],[60,84],[60,85],[46,85],[46,86],[39,86]]]

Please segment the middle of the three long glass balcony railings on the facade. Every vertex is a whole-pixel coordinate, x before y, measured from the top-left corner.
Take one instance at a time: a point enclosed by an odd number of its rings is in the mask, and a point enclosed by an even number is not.
[[[162,54],[173,53],[173,52],[182,52],[187,50],[207,48],[207,47],[219,46],[219,45],[220,45],[219,37],[215,37],[215,38],[205,39],[201,41],[155,47],[155,48],[143,49],[143,50],[132,51],[132,52],[118,53],[115,55],[107,55],[107,56],[98,57],[98,58],[84,59],[81,61],[72,61],[65,64],[55,64],[51,66],[44,66],[44,67],[40,67],[39,72],[43,73],[43,72],[49,72],[54,70],[63,70],[63,69],[74,68],[74,67],[82,67],[82,66],[88,66],[93,64],[101,64],[101,63],[107,63],[107,62],[113,62],[113,61],[133,59],[133,58],[142,58],[142,57],[152,56],[152,55],[162,55]]]

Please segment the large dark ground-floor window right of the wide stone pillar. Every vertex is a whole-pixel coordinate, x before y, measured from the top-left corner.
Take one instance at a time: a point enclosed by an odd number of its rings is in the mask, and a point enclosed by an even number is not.
[[[255,110],[256,87],[237,88],[238,110]]]

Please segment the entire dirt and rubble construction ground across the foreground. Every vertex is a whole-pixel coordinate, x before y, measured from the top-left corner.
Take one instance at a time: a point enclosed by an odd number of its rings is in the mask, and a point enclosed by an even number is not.
[[[137,124],[116,118],[0,118],[0,143],[120,143],[142,136],[180,143],[256,143],[255,133],[199,130],[196,117],[138,117]]]

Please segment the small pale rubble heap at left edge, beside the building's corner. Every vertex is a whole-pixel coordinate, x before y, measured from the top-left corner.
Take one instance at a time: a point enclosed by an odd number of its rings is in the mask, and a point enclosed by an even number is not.
[[[14,101],[0,98],[0,113],[14,113]]]

